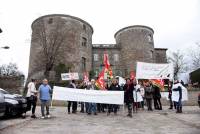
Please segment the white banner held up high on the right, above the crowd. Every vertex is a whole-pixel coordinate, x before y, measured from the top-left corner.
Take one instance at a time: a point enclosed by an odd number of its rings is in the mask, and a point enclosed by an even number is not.
[[[137,62],[136,78],[173,79],[173,65]]]

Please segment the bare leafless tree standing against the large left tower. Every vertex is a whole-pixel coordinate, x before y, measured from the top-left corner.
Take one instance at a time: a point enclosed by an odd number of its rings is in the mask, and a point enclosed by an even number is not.
[[[48,78],[49,71],[54,67],[58,51],[66,40],[67,29],[62,19],[55,19],[54,22],[49,20],[48,23],[42,20],[37,25],[34,39],[42,46],[45,59],[44,75]]]

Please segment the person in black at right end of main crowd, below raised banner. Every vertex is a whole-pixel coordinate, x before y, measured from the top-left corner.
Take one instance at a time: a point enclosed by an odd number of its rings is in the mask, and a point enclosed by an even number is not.
[[[153,99],[154,99],[154,109],[162,110],[162,104],[160,101],[161,94],[160,94],[160,88],[157,86],[153,86],[154,93],[153,93]]]

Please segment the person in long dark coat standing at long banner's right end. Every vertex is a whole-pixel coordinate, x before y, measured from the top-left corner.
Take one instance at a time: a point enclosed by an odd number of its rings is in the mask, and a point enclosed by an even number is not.
[[[124,90],[124,100],[126,105],[128,106],[128,115],[129,117],[132,117],[132,106],[133,106],[133,90],[134,90],[134,86],[133,83],[131,82],[130,79],[126,79],[126,84],[123,87]]]

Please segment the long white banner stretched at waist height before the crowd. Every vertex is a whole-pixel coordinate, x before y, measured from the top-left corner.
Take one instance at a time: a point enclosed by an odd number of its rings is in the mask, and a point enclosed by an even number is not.
[[[53,100],[124,104],[124,91],[85,90],[54,86]]]

